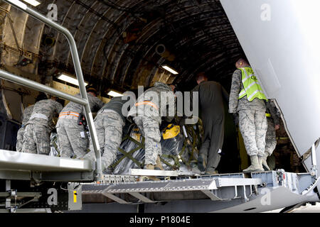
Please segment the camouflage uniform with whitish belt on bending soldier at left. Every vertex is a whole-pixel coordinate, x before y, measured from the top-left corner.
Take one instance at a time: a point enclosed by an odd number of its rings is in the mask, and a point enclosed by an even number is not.
[[[22,151],[25,153],[50,153],[50,133],[54,129],[53,117],[63,109],[58,101],[45,99],[36,102],[23,135]]]

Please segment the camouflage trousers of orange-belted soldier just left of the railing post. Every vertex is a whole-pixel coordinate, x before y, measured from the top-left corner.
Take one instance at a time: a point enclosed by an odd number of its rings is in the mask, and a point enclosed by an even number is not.
[[[60,156],[82,158],[87,153],[88,138],[85,128],[76,119],[59,118],[57,122]]]

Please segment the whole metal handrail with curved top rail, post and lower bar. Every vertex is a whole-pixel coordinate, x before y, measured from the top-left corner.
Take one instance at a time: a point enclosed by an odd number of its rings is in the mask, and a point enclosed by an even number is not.
[[[95,157],[96,157],[96,174],[97,179],[101,179],[102,177],[102,165],[101,165],[101,154],[100,154],[100,146],[97,140],[97,132],[95,131],[95,124],[93,123],[92,113],[90,110],[90,104],[87,98],[87,91],[85,89],[85,80],[83,79],[83,74],[81,70],[77,45],[75,44],[75,39],[73,38],[73,35],[68,31],[67,28],[64,28],[63,26],[60,26],[60,24],[55,23],[55,21],[51,21],[50,19],[46,18],[46,16],[43,16],[41,13],[38,13],[37,11],[34,11],[33,9],[28,8],[26,4],[23,4],[21,1],[18,0],[2,0],[5,1],[8,4],[11,4],[12,6],[16,7],[17,9],[20,9],[21,11],[24,11],[28,13],[33,18],[38,19],[39,21],[46,23],[48,26],[51,26],[55,28],[56,30],[60,31],[65,35],[65,38],[67,38],[68,43],[70,45],[70,52],[71,56],[73,58],[73,65],[75,66],[75,75],[77,76],[78,82],[79,82],[79,89],[80,89],[80,95],[81,99],[78,99],[75,96],[70,96],[69,94],[66,94],[64,92],[59,92],[56,89],[53,89],[51,87],[48,87],[43,84],[39,84],[37,82],[33,82],[32,80],[25,79],[22,77],[18,77],[14,74],[8,73],[4,70],[0,70],[0,75],[4,79],[9,79],[13,82],[16,82],[21,85],[25,85],[26,87],[31,87],[33,89],[40,90],[42,92],[48,92],[50,94],[54,94],[56,96],[59,96],[64,99],[69,99],[70,101],[75,101],[78,104],[82,104],[85,109],[85,117],[87,118],[87,123],[89,126],[90,135],[92,138],[92,145],[95,150]]]

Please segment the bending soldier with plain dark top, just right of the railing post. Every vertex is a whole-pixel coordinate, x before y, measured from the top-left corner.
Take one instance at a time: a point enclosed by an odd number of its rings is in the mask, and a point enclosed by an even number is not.
[[[122,142],[122,128],[127,121],[127,116],[122,113],[122,106],[126,102],[127,99],[114,97],[97,112],[95,117],[95,129],[102,154],[102,170],[107,169],[117,158],[117,150]],[[90,138],[90,153],[83,158],[95,160],[92,138]]]

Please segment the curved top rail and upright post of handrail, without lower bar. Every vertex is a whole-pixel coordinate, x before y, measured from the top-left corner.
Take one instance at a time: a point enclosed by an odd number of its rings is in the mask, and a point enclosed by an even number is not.
[[[6,3],[11,4],[12,6],[16,7],[17,9],[20,9],[21,11],[24,11],[28,13],[33,18],[38,19],[39,21],[42,21],[43,23],[46,23],[48,26],[51,26],[55,28],[56,30],[60,31],[65,35],[65,37],[68,40],[68,43],[70,45],[70,52],[73,58],[73,65],[75,66],[75,74],[77,76],[78,82],[79,82],[79,89],[82,99],[86,100],[86,103],[84,104],[85,109],[85,118],[87,118],[87,123],[89,126],[90,135],[92,137],[92,145],[95,150],[95,157],[96,157],[96,172],[97,172],[97,179],[101,179],[102,177],[102,165],[101,165],[101,154],[100,154],[100,147],[97,140],[97,133],[95,131],[95,124],[93,123],[92,113],[90,110],[89,101],[87,98],[87,91],[85,89],[85,80],[83,79],[83,74],[81,70],[77,45],[75,44],[75,39],[73,38],[73,35],[68,31],[67,28],[64,28],[63,26],[60,26],[60,24],[55,23],[55,21],[51,21],[50,19],[46,18],[46,16],[43,16],[41,13],[38,13],[37,11],[34,11],[33,9],[28,8],[26,4],[23,4],[23,2],[14,0],[2,0],[6,1]]]

